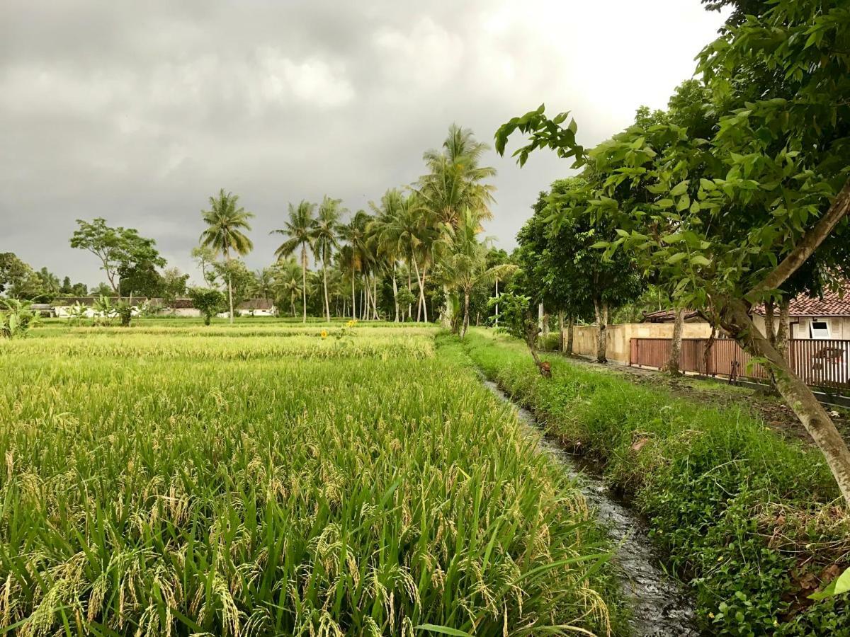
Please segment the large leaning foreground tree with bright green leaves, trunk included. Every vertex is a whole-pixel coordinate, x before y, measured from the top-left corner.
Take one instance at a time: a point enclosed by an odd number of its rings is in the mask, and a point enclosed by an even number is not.
[[[567,114],[550,120],[541,107],[503,125],[496,148],[520,130],[530,135],[515,153],[520,163],[549,147],[598,172],[584,213],[620,234],[600,245],[632,251],[678,306],[700,309],[762,358],[850,502],[847,444],[750,316],[755,303],[797,285],[807,262],[829,279],[850,243],[850,13],[842,4],[777,0],[728,25],[699,58],[711,92],[706,115],[717,116],[708,138],[674,121],[660,131],[638,123],[588,152],[575,141],[575,121],[564,128]],[[650,133],[666,143],[649,143]]]

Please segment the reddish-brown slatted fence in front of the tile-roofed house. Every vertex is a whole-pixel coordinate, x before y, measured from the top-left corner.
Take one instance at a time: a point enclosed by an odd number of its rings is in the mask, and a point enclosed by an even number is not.
[[[706,356],[708,343],[705,338],[682,339],[679,369],[710,376],[768,378],[762,365],[754,363],[733,339],[717,339]],[[670,344],[669,338],[632,338],[629,364],[660,369],[670,358]],[[850,340],[793,339],[788,343],[788,359],[808,385],[850,389]]]

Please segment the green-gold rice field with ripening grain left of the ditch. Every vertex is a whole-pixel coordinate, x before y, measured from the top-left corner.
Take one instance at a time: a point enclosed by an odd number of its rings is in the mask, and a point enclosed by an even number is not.
[[[620,631],[581,494],[438,330],[48,324],[0,374],[0,634]]]

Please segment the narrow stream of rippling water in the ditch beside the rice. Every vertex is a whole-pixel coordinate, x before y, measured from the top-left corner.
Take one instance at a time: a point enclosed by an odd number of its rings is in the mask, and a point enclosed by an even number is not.
[[[496,386],[484,385],[507,403],[510,398]],[[511,403],[513,404],[513,403]],[[575,479],[588,505],[596,510],[598,520],[609,529],[609,536],[619,548],[615,564],[622,573],[621,582],[630,605],[632,631],[636,635],[684,637],[699,635],[694,627],[694,608],[682,586],[668,577],[649,543],[646,524],[609,493],[603,480],[581,471],[572,455],[541,434],[534,414],[513,405],[519,420],[529,427],[529,435],[540,441],[540,447],[551,454]]]

